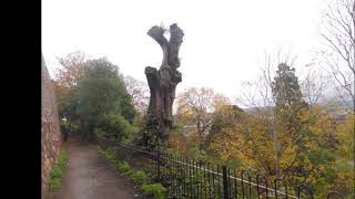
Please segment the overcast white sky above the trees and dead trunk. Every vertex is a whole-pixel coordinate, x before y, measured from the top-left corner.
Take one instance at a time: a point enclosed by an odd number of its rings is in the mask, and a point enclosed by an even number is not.
[[[282,48],[297,56],[296,71],[318,45],[323,0],[42,0],[42,53],[53,75],[55,56],[77,50],[106,56],[123,75],[145,82],[144,67],[159,67],[161,48],[146,31],[176,22],[189,86],[213,87],[233,98],[241,82],[255,78],[264,52]],[[301,70],[301,69],[300,69]]]

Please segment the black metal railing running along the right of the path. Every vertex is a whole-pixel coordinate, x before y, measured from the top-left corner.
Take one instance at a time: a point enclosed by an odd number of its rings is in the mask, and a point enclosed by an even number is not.
[[[314,198],[314,190],[304,184],[291,189],[283,179],[267,180],[264,176],[251,174],[248,170],[237,171],[226,166],[187,159],[150,148],[129,146],[105,138],[100,138],[99,145],[103,148],[116,148],[119,158],[151,159],[154,179],[168,188],[169,198]],[[326,198],[343,199],[344,197],[336,191],[329,191]]]

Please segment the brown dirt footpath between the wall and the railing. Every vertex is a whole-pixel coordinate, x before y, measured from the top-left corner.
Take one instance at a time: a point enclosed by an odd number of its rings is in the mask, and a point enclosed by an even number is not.
[[[108,165],[94,146],[78,140],[70,140],[65,145],[69,159],[62,186],[49,199],[143,198]]]

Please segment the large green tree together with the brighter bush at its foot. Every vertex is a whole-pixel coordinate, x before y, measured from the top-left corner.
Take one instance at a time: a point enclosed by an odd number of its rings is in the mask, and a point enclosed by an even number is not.
[[[105,59],[89,60],[83,74],[68,102],[72,117],[80,121],[83,138],[94,139],[94,132],[128,137],[133,132],[130,124],[135,109],[118,66]]]

